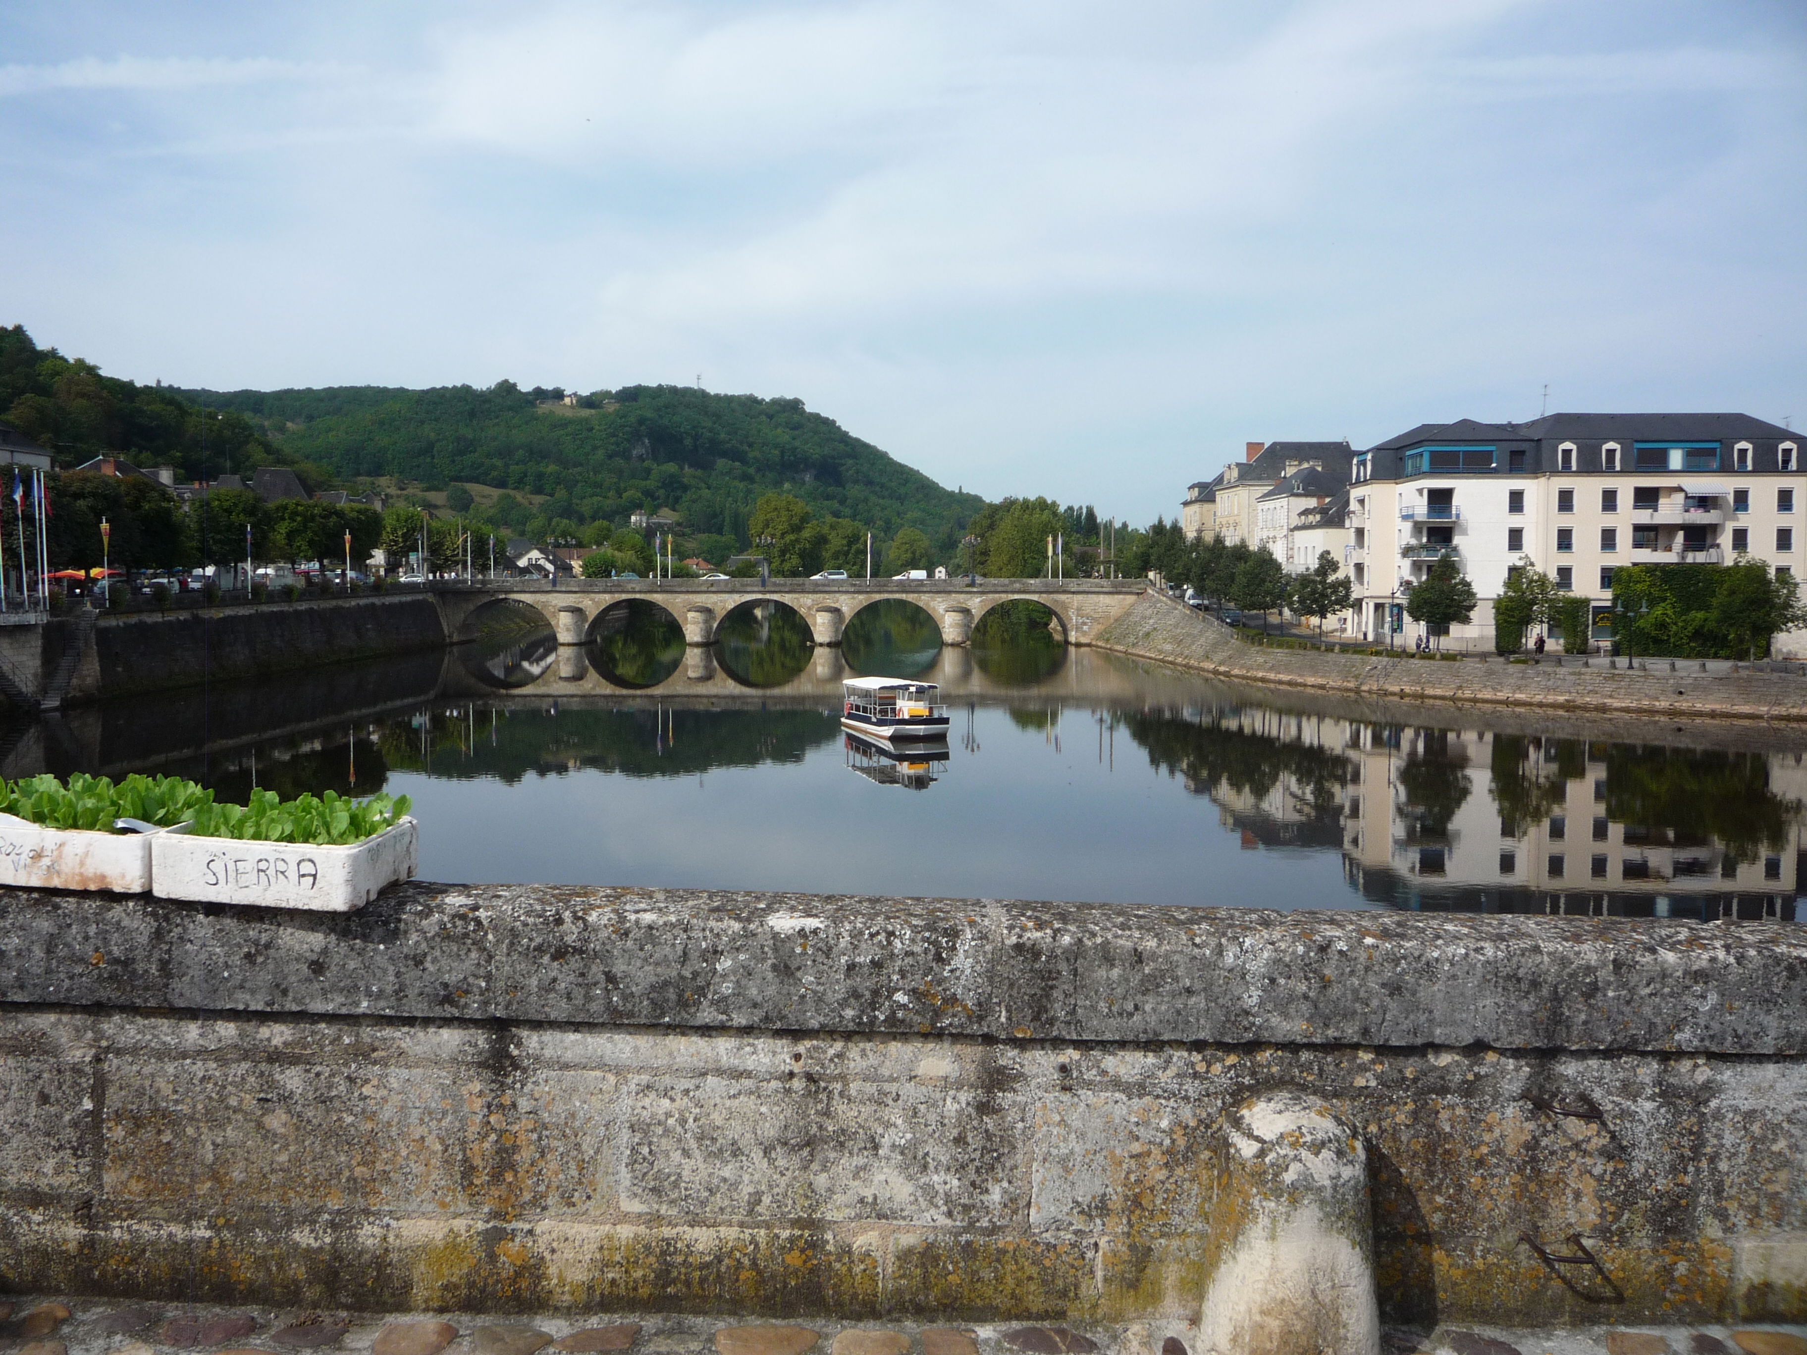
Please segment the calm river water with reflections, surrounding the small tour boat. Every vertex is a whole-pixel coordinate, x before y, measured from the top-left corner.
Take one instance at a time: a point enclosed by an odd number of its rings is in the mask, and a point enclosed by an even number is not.
[[[72,715],[7,773],[405,793],[434,880],[1794,918],[1794,735],[1456,728],[1066,650],[1026,614],[972,650],[909,607],[844,650],[782,607],[714,650],[647,614],[582,650],[501,621],[450,656]],[[857,672],[941,683],[949,741],[844,734]]]

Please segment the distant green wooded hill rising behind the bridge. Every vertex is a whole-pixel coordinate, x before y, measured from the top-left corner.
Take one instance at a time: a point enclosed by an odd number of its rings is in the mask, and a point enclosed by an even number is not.
[[[392,475],[428,490],[488,484],[551,495],[549,520],[623,522],[672,508],[692,537],[746,540],[764,493],[802,499],[822,519],[882,537],[918,528],[949,547],[985,500],[954,493],[799,399],[692,387],[623,387],[562,405],[562,390],[329,387],[183,390],[233,410],[295,461],[342,477]]]

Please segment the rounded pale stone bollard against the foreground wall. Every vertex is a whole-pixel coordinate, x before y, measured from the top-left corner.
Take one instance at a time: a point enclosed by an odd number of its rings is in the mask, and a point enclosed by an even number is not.
[[[1222,1131],[1200,1355],[1379,1355],[1361,1138],[1297,1091],[1245,1100]]]

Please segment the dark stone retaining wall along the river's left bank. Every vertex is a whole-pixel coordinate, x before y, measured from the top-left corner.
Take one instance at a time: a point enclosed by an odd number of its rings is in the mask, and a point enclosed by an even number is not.
[[[70,699],[143,696],[389,654],[443,649],[425,593],[103,616]]]

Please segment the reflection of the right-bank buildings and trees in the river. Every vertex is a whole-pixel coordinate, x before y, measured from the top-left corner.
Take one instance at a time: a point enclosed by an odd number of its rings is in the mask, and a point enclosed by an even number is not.
[[[1243,847],[1341,851],[1395,909],[1793,920],[1807,768],[1764,755],[1368,724],[1261,706],[1124,717]]]

